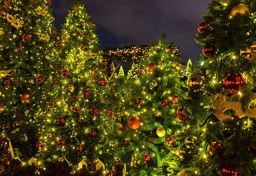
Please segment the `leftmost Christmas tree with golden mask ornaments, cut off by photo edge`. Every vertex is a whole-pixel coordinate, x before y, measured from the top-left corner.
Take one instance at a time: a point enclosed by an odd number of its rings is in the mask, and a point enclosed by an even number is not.
[[[34,114],[45,98],[44,91],[50,88],[55,62],[50,4],[43,0],[2,1],[0,8],[1,144],[12,145],[11,157],[26,161],[37,152],[40,127]]]

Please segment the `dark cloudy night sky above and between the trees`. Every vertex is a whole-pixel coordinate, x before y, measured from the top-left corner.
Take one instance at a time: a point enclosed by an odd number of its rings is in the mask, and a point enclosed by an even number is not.
[[[181,62],[199,58],[202,46],[194,42],[201,15],[208,13],[212,0],[88,0],[87,12],[97,25],[99,48],[174,42],[181,51]],[[72,0],[52,0],[55,27],[61,32]]]

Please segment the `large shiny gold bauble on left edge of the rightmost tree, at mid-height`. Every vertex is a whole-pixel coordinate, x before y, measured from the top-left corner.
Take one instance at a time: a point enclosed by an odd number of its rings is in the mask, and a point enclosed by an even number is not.
[[[205,93],[205,77],[199,73],[194,73],[191,75],[187,82],[187,87],[189,92],[196,96],[200,96]]]

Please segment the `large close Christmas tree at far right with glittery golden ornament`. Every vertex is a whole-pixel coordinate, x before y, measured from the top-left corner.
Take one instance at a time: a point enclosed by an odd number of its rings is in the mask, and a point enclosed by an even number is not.
[[[255,1],[212,1],[195,41],[201,68],[188,79],[172,175],[255,175]]]

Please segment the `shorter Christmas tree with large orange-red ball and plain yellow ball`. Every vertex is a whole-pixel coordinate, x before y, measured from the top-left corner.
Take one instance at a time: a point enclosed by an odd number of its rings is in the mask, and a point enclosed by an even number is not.
[[[129,175],[167,174],[172,157],[169,147],[175,140],[172,134],[179,128],[174,104],[185,86],[179,80],[178,49],[165,43],[165,35],[154,48],[140,63],[145,74],[138,79],[117,79],[121,98],[111,134],[117,140],[115,175],[122,172],[122,163],[127,164]]]

